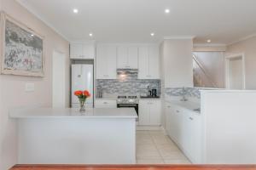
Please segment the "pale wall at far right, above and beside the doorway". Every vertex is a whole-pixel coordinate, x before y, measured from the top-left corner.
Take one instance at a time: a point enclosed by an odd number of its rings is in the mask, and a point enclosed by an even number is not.
[[[241,53],[245,55],[246,89],[256,89],[256,37],[229,45],[225,55]]]

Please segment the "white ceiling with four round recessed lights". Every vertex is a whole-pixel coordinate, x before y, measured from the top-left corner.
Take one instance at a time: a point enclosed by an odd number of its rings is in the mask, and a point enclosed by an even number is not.
[[[195,36],[195,43],[229,44],[256,33],[256,0],[17,1],[68,40],[160,42]]]

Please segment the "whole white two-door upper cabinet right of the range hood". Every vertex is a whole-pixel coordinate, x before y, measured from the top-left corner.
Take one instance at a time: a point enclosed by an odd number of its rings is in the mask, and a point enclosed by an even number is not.
[[[138,49],[138,78],[160,79],[160,57],[157,45],[140,46]]]

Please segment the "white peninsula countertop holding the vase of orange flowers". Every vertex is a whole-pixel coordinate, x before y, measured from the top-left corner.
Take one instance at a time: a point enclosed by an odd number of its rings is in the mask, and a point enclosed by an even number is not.
[[[84,113],[79,108],[27,108],[9,111],[11,118],[137,118],[132,108],[86,108]]]

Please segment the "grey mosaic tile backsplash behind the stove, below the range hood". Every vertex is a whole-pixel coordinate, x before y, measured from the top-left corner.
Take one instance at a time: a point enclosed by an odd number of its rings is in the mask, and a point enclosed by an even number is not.
[[[111,95],[145,95],[149,89],[157,89],[160,95],[160,80],[137,79],[137,72],[118,72],[117,79],[96,80],[96,88],[102,88],[102,94]]]

